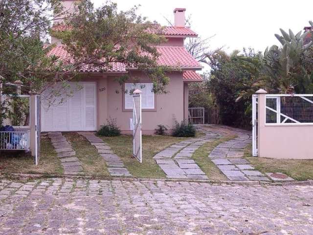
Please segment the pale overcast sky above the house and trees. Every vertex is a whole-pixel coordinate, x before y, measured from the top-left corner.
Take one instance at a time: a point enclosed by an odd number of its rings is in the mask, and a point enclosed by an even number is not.
[[[192,29],[201,38],[214,36],[212,49],[224,46],[228,52],[243,47],[264,51],[278,44],[274,33],[279,28],[296,33],[313,21],[313,0],[112,0],[120,10],[140,4],[139,13],[168,25],[174,21],[173,10],[186,8]],[[93,0],[100,6],[105,0]]]

